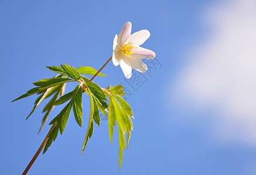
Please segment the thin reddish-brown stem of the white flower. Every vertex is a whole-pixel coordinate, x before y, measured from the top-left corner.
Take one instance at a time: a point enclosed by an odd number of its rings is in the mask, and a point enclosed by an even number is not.
[[[100,70],[98,70],[98,72],[93,76],[93,78],[90,79],[89,82],[93,81],[93,79],[95,78],[95,76],[97,76],[97,75],[100,73],[100,71],[108,64],[108,62],[110,62],[111,59],[112,59],[112,56],[110,57],[110,59],[108,59],[107,62],[105,62],[105,64],[103,65],[103,67],[101,67]],[[86,90],[86,87],[83,86],[83,92],[84,92],[85,90]],[[41,144],[41,146],[40,146],[39,149],[37,150],[35,156],[33,156],[32,160],[30,160],[28,166],[27,166],[26,169],[23,171],[22,175],[25,175],[25,174],[28,173],[30,167],[31,167],[32,164],[35,162],[37,156],[40,154],[40,152],[42,151],[42,149],[43,149],[43,147],[45,146],[46,142],[48,141],[48,139],[49,139],[48,137],[49,137],[49,135],[50,135],[50,132],[52,132],[53,128],[56,127],[56,125],[57,125],[57,122],[52,125],[52,128],[50,128],[50,131],[48,132],[48,134],[46,135],[45,139],[43,140],[43,143]]]

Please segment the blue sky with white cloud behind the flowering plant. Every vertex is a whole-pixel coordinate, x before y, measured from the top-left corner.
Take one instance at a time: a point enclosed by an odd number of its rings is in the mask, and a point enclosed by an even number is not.
[[[121,170],[117,128],[111,144],[107,121],[80,155],[90,113],[83,95],[83,127],[71,114],[29,174],[255,174],[254,12],[252,0],[0,1],[1,172],[21,174],[50,128],[37,135],[43,105],[25,120],[35,96],[10,101],[55,75],[46,65],[99,69],[130,21],[132,33],[151,32],[142,46],[155,51],[158,65],[139,88],[111,62],[102,71],[108,77],[94,81],[132,93],[134,131]]]

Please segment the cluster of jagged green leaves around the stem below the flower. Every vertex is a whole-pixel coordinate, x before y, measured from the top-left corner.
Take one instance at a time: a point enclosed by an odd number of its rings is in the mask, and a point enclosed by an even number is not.
[[[100,110],[104,115],[108,117],[108,128],[111,143],[114,127],[117,123],[120,143],[119,164],[121,167],[123,150],[126,148],[125,135],[127,135],[128,149],[129,139],[131,138],[131,130],[133,129],[132,121],[130,118],[133,117],[131,107],[127,101],[121,97],[125,95],[123,87],[118,85],[113,86],[112,88],[108,86],[106,89],[103,89],[100,88],[100,86],[98,86],[96,83],[90,82],[86,76],[81,74],[95,75],[97,71],[91,67],[80,67],[76,69],[74,67],[70,67],[69,65],[61,65],[61,67],[53,66],[47,68],[59,74],[50,79],[42,79],[40,81],[34,82],[33,84],[36,86],[36,88],[30,89],[24,95],[13,100],[16,101],[34,94],[39,95],[35,101],[32,111],[26,118],[28,119],[43,100],[51,97],[46,106],[43,108],[43,113],[45,113],[45,115],[42,119],[39,132],[43,128],[43,125],[45,124],[50,111],[53,110],[54,106],[67,103],[60,111],[60,113],[49,123],[49,125],[53,125],[53,127],[48,136],[48,140],[46,142],[43,153],[45,153],[52,142],[56,140],[59,132],[60,134],[63,134],[72,109],[77,124],[82,127],[82,94],[84,91],[86,91],[87,95],[90,97],[90,118],[81,153],[83,153],[84,149],[86,148],[88,139],[90,139],[93,135],[94,122],[100,127]],[[98,76],[106,75],[100,73]],[[78,82],[79,84],[73,91],[63,95],[67,82]],[[107,100],[108,104],[106,103]]]

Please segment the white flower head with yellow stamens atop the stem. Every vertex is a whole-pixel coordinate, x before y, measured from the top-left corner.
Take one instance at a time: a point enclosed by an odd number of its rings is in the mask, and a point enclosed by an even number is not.
[[[115,34],[113,41],[113,64],[120,65],[126,78],[131,78],[132,68],[142,73],[146,72],[148,67],[141,59],[151,60],[156,55],[151,50],[139,47],[149,38],[149,31],[140,30],[131,35],[131,29],[131,22],[125,23],[120,34]]]

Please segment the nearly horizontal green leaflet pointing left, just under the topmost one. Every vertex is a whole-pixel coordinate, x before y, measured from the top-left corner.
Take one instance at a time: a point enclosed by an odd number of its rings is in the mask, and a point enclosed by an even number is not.
[[[60,85],[62,83],[73,82],[73,81],[76,81],[76,80],[69,79],[69,78],[50,78],[50,79],[41,79],[38,82],[33,82],[33,84],[35,86],[40,86],[43,88],[45,88],[45,87],[50,88],[53,86]]]

